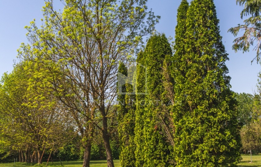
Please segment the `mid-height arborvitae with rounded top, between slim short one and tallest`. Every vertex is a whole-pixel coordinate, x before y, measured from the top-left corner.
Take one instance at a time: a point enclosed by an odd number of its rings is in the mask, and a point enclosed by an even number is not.
[[[161,96],[164,92],[161,81],[165,56],[172,54],[170,43],[165,35],[153,35],[143,54],[147,75],[144,75],[144,70],[137,70],[137,88],[138,91],[139,88],[144,90],[147,84],[147,93],[144,98],[137,96],[136,166],[168,166],[170,151],[157,121],[158,115],[162,113],[162,104],[167,103]],[[147,83],[144,83],[144,76],[147,76]]]

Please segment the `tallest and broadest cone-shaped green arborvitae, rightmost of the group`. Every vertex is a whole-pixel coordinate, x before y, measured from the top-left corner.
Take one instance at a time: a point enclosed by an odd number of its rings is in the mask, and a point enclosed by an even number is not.
[[[239,126],[213,0],[192,1],[186,23],[185,46],[176,41],[173,69],[177,166],[235,166]]]

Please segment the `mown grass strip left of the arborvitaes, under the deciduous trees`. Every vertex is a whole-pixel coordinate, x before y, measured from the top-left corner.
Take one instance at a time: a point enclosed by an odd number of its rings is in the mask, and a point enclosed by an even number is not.
[[[121,167],[119,160],[113,160],[115,167]],[[48,167],[82,167],[83,161],[62,161],[62,165],[60,162],[48,162]],[[46,162],[43,162],[40,167],[45,167]],[[26,163],[0,163],[0,167],[31,167],[32,165],[26,164]],[[33,165],[34,167],[38,167],[38,164]],[[106,160],[100,160],[100,161],[90,161],[90,167],[106,167],[107,163]]]

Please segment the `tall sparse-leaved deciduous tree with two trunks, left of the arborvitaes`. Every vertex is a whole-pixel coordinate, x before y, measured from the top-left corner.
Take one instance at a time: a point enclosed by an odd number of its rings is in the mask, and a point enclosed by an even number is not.
[[[133,56],[142,37],[158,22],[159,17],[147,11],[146,2],[66,0],[59,13],[50,0],[43,8],[43,26],[38,29],[32,22],[26,27],[34,51],[32,60],[49,70],[49,75],[45,73],[48,82],[80,130],[84,167],[89,166],[96,127],[102,132],[107,164],[114,166],[108,133],[109,111],[116,95],[114,74],[118,61]],[[22,50],[25,55],[28,47],[22,46]]]

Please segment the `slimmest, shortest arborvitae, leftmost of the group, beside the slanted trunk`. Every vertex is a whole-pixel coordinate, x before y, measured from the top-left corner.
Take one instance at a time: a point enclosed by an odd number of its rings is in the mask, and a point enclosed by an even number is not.
[[[128,75],[126,66],[119,63],[119,69],[123,75]],[[135,166],[135,95],[128,94],[133,92],[133,86],[130,84],[122,85],[123,94],[118,94],[119,112],[118,112],[118,133],[120,142],[120,161],[122,167]],[[126,94],[125,94],[126,93]]]

